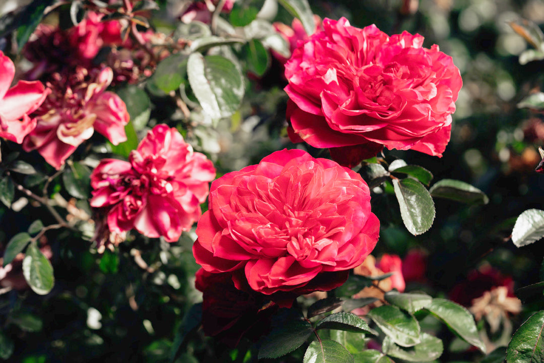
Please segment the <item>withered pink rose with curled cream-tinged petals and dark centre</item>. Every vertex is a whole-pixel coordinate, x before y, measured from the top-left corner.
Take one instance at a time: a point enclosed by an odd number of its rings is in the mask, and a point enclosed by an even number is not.
[[[36,128],[24,139],[24,150],[38,150],[47,163],[60,169],[95,130],[114,145],[127,140],[125,125],[129,115],[125,102],[106,91],[113,78],[110,68],[87,74],[79,67],[68,77],[58,73],[54,76],[55,82],[50,84],[53,93],[34,114]]]

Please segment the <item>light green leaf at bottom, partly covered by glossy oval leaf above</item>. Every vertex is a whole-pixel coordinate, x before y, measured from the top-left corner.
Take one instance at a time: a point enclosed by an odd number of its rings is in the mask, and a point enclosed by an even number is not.
[[[399,347],[386,336],[382,345],[384,353],[409,362],[428,362],[442,355],[442,341],[427,333],[421,333],[421,343],[410,348]]]

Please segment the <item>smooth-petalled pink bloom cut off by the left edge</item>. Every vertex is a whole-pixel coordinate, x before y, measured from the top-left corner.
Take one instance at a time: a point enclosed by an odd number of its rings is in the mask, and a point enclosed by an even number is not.
[[[0,51],[0,137],[21,144],[36,127],[34,112],[50,92],[41,82],[18,81],[10,88],[15,76],[13,61]]]

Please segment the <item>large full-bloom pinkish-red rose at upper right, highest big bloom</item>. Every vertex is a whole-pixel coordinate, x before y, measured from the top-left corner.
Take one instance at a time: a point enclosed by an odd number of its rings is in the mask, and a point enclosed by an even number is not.
[[[423,36],[325,19],[286,63],[290,137],[346,157],[388,149],[442,156],[462,81],[452,57]],[[357,149],[356,152],[353,149]]]

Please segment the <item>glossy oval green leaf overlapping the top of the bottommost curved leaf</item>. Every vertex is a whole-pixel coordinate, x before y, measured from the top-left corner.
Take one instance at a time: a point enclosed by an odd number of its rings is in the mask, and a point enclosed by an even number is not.
[[[412,347],[421,342],[417,320],[392,305],[382,305],[367,314],[385,335],[403,347]]]

